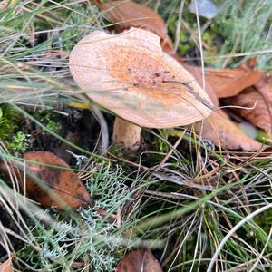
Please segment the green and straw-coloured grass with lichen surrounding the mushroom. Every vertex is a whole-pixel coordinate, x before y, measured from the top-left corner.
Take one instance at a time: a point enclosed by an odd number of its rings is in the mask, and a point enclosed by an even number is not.
[[[208,44],[205,65],[236,66],[257,55],[258,67],[271,72],[272,7],[268,1],[244,1],[242,6],[240,1],[217,2],[224,4],[217,18],[211,22],[200,18],[203,42]],[[180,4],[148,2],[159,7],[173,38]],[[176,37],[184,57],[199,43],[196,16],[189,13],[187,4],[182,18],[189,28],[181,24]],[[69,73],[67,51],[86,34],[106,26],[92,1],[15,1],[0,11],[1,157],[17,156],[7,143],[17,132],[24,132],[23,120],[63,141],[77,155],[92,159],[87,170],[80,163],[73,165],[79,173],[90,174],[84,181],[93,201],[88,208],[41,209],[18,195],[15,177],[13,183],[1,180],[0,208],[4,206],[17,222],[18,234],[11,237],[22,240],[15,248],[7,237],[0,240],[6,250],[16,253],[15,268],[114,271],[127,249],[148,246],[158,254],[165,271],[206,271],[220,243],[240,224],[222,244],[215,267],[218,271],[267,271],[272,265],[270,153],[252,158],[247,153],[221,153],[213,146],[207,148],[208,141],[190,131],[179,140],[182,131],[173,135],[144,130],[146,151],[126,155],[112,148],[112,155],[102,156],[99,149],[75,146],[61,136],[62,127],[50,112],[63,112],[59,103],[68,107],[73,94],[81,92]],[[222,38],[220,48],[215,44],[217,35]],[[236,53],[242,57],[230,58]],[[112,131],[111,113],[102,113]],[[102,217],[100,209],[107,216]],[[0,228],[6,234],[4,223]]]

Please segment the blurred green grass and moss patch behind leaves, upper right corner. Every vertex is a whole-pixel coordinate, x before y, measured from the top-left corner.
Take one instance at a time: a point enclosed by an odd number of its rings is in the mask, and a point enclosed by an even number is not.
[[[219,15],[212,20],[200,17],[204,62],[215,68],[237,67],[249,58],[257,57],[257,68],[272,73],[272,6],[261,1],[215,1]],[[163,1],[161,13],[169,22],[171,36],[179,41],[178,52],[191,59],[199,46],[196,15],[189,13],[188,5],[179,1]],[[182,9],[183,7],[183,9]],[[185,24],[177,24],[182,14]],[[180,35],[176,35],[180,25]],[[217,41],[217,43],[216,43]],[[218,47],[220,44],[220,48]],[[195,61],[200,63],[196,53]]]

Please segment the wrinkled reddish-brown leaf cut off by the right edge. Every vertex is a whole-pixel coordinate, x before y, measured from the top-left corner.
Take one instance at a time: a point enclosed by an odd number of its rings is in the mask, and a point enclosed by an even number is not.
[[[263,74],[262,79],[254,86],[240,92],[235,97],[225,100],[229,105],[254,107],[254,109],[235,109],[239,115],[252,124],[263,129],[272,137],[272,77]]]

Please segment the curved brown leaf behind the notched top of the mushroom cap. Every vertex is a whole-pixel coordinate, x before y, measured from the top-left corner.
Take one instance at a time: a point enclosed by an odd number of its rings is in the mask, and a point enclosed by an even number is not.
[[[167,35],[167,26],[151,8],[146,5],[131,1],[110,1],[102,4],[95,0],[94,3],[105,12],[117,32],[122,32],[131,27],[144,28],[160,36],[160,45],[166,53],[174,54],[173,44]]]

